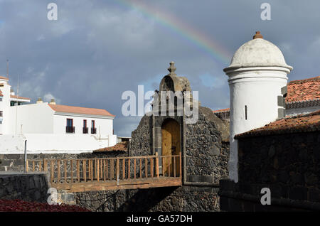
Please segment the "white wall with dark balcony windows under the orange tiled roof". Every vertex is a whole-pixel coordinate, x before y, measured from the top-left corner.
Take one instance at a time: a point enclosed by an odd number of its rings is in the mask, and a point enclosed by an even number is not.
[[[87,120],[88,134],[91,134],[91,120],[95,120],[95,128],[97,129],[97,135],[112,135],[113,134],[113,119],[101,119],[96,117],[85,117],[80,115],[59,115],[55,114],[53,117],[53,133],[65,134],[65,127],[67,126],[67,119],[73,119],[73,127],[75,127],[75,134],[83,134],[83,120]]]

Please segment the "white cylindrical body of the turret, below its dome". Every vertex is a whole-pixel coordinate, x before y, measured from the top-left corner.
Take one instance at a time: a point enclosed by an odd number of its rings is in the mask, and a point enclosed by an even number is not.
[[[229,176],[238,182],[238,141],[236,134],[265,126],[278,117],[277,97],[287,85],[289,70],[241,68],[228,72],[230,87],[230,159]],[[247,105],[247,119],[245,119]]]

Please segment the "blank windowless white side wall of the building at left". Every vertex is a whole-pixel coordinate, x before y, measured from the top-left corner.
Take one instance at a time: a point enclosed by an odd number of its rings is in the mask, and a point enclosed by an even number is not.
[[[13,106],[9,112],[11,120],[6,134],[53,134],[54,111],[48,103]]]

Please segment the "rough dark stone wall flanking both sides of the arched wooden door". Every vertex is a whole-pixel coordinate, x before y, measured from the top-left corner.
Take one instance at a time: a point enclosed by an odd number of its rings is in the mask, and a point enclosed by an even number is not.
[[[151,117],[144,115],[132,131],[130,155],[150,155]],[[229,120],[222,120],[207,107],[199,107],[196,124],[186,124],[186,181],[218,183],[228,176]]]

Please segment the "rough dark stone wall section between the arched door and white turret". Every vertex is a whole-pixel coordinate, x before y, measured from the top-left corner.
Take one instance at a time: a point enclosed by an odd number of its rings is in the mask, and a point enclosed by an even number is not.
[[[228,121],[200,107],[198,122],[186,124],[187,181],[218,183],[228,176],[228,157]]]

